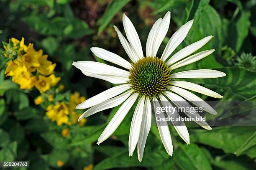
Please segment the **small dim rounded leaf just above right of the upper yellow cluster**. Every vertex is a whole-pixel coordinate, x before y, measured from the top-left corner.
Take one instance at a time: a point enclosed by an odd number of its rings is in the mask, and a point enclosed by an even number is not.
[[[47,37],[42,40],[42,46],[46,49],[47,53],[53,55],[59,47],[59,41],[54,37]]]

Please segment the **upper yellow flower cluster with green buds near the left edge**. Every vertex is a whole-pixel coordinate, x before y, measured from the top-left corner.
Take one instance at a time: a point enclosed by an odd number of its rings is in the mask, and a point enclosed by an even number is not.
[[[43,55],[42,50],[36,51],[32,43],[26,46],[24,38],[21,41],[11,38],[10,42],[10,47],[4,46],[4,56],[11,59],[7,62],[6,76],[11,76],[12,81],[20,85],[20,89],[32,89],[35,86],[40,93],[44,93],[56,86],[60,81],[60,77],[52,74],[56,63],[48,61],[48,56]]]

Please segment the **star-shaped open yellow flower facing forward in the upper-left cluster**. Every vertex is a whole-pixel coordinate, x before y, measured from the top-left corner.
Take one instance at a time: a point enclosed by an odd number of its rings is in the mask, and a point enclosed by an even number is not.
[[[39,67],[40,63],[38,61],[38,58],[40,57],[41,52],[40,51],[36,51],[33,48],[33,44],[29,44],[28,45],[28,49],[26,50],[26,54],[24,54],[23,56],[21,56],[21,61],[23,61],[24,65],[30,69],[32,67],[32,69],[34,70],[34,67]]]

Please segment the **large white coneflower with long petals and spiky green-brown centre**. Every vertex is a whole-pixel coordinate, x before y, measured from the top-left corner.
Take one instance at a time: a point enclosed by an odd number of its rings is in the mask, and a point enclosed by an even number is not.
[[[113,132],[115,132],[115,129],[118,128],[119,124],[123,121],[128,111],[138,99],[138,104],[131,122],[129,155],[133,155],[133,151],[137,145],[139,161],[142,160],[146,139],[151,127],[151,101],[164,101],[168,98],[175,104],[175,101],[185,101],[186,99],[194,101],[195,105],[203,103],[205,105],[205,111],[210,112],[211,114],[217,114],[206,102],[202,101],[198,96],[185,89],[215,98],[222,98],[220,94],[215,93],[210,89],[206,89],[205,87],[187,81],[176,81],[176,79],[216,78],[225,76],[223,72],[203,69],[182,71],[172,74],[174,69],[193,63],[210,55],[214,50],[202,51],[189,56],[204,46],[208,41],[210,41],[210,39],[212,39],[213,36],[208,36],[200,41],[192,43],[175,53],[166,61],[175,48],[177,48],[177,46],[179,46],[187,36],[193,20],[182,25],[182,27],[179,28],[179,30],[177,30],[177,32],[170,38],[161,58],[156,57],[159,46],[166,36],[169,23],[170,12],[167,12],[164,18],[159,18],[156,23],[154,23],[148,35],[146,43],[146,57],[144,57],[138,34],[131,23],[131,20],[126,15],[123,15],[123,26],[128,41],[120,30],[118,30],[117,27],[114,27],[120,42],[132,63],[129,63],[117,54],[111,53],[105,49],[97,47],[91,48],[92,53],[94,53],[95,56],[122,66],[124,69],[118,69],[114,66],[94,61],[78,61],[73,63],[73,65],[80,69],[86,76],[103,79],[113,84],[122,84],[103,91],[102,93],[87,99],[76,107],[77,109],[90,108],[81,115],[79,118],[79,120],[81,120],[84,117],[88,117],[105,109],[116,107],[123,103],[100,135],[97,144],[105,141],[111,134],[113,134]],[[179,105],[178,102],[177,105]],[[189,103],[186,103],[186,105],[190,106]],[[197,114],[190,114],[189,112],[186,114],[194,117],[197,116]],[[204,121],[198,121],[197,123],[205,129],[211,129]],[[182,124],[184,124],[184,122],[182,122]],[[157,127],[167,153],[172,155],[173,147],[169,127],[167,125],[158,125]],[[184,125],[174,127],[182,139],[189,144],[187,127]]]

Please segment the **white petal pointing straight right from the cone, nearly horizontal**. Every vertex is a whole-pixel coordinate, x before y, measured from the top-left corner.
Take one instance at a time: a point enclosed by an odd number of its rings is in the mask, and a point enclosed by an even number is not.
[[[201,69],[201,70],[189,70],[189,71],[174,73],[171,75],[171,78],[207,79],[207,78],[218,78],[223,76],[226,76],[226,74],[221,71]]]

